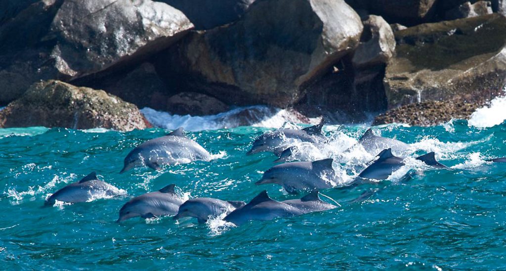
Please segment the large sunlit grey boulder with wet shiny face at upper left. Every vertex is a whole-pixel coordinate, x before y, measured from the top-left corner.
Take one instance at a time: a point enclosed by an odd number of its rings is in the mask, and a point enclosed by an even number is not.
[[[182,12],[150,0],[66,0],[52,57],[62,74],[87,75],[163,50],[191,28]]]

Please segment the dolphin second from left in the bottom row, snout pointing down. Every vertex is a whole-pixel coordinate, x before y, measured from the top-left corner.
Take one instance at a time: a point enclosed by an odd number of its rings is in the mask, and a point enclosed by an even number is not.
[[[119,210],[116,222],[122,222],[132,217],[153,218],[178,213],[179,206],[184,200],[174,188],[175,184],[167,185],[158,191],[145,193],[125,203]]]

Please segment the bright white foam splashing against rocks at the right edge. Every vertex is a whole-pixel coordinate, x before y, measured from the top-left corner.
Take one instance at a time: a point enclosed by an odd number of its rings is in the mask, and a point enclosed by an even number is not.
[[[477,109],[468,121],[469,126],[487,128],[499,125],[506,120],[506,96],[496,97],[490,106]]]

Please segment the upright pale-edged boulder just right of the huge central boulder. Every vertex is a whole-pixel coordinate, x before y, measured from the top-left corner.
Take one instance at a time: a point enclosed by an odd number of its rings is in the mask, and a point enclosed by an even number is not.
[[[387,63],[395,51],[395,36],[380,16],[370,15],[363,21],[364,30],[352,62],[356,68]]]

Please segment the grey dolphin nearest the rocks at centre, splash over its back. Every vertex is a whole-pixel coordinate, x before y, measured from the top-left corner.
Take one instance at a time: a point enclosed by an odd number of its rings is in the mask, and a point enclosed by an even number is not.
[[[325,136],[321,133],[322,128],[323,124],[318,124],[301,130],[280,129],[267,132],[253,142],[251,149],[246,154],[250,155],[257,152],[270,151],[279,156],[294,141],[314,144],[322,143],[326,140]]]

